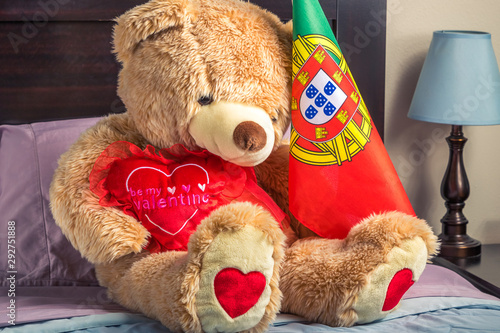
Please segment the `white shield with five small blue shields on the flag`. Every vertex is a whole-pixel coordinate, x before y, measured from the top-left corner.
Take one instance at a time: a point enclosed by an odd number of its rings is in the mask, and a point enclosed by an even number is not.
[[[300,97],[300,111],[311,124],[329,122],[344,104],[347,95],[323,69],[320,69]]]

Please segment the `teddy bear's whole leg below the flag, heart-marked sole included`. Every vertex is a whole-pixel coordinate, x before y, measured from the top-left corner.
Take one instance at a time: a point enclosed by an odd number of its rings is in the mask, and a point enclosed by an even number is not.
[[[436,248],[425,221],[397,212],[365,219],[344,240],[299,240],[285,253],[282,312],[331,326],[383,318]]]

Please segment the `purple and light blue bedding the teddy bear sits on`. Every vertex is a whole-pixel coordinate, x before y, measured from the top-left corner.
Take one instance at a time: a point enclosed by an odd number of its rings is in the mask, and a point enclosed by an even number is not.
[[[0,300],[7,304],[7,290]],[[110,301],[101,287],[22,287],[16,290],[16,325],[0,309],[0,331],[169,332],[158,321]],[[269,332],[500,332],[500,299],[477,290],[451,270],[427,265],[399,308],[383,320],[333,328],[279,314]]]

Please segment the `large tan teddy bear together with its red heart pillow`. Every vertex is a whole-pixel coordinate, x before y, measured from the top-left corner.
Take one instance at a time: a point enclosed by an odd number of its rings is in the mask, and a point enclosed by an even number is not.
[[[50,188],[113,300],[175,332],[262,332],[280,311],[351,326],[397,306],[436,251],[425,221],[388,212],[324,239],[289,212],[290,23],[246,1],[151,0],[113,38],[127,110],[81,135]]]

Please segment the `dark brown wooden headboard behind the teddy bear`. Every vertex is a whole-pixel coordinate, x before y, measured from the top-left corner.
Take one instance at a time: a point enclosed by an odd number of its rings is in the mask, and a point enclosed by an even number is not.
[[[288,21],[291,0],[251,0]],[[0,124],[123,112],[113,19],[145,0],[0,4]],[[386,0],[320,0],[383,137]]]

